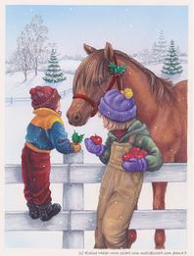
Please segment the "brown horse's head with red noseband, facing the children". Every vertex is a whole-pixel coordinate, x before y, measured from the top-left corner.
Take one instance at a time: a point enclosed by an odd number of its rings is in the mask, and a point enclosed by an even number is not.
[[[105,49],[83,45],[88,54],[79,65],[73,78],[73,102],[67,112],[69,123],[75,127],[86,124],[98,108],[100,98],[105,94],[112,76],[109,63],[113,61],[114,50],[110,43]]]

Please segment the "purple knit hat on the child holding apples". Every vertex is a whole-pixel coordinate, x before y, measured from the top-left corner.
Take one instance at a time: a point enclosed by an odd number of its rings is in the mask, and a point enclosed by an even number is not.
[[[134,99],[126,98],[121,91],[112,89],[101,98],[98,111],[104,117],[118,122],[128,122],[136,117],[137,107]]]

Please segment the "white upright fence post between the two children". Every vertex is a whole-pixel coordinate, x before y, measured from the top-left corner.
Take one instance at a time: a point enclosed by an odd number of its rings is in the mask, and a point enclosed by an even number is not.
[[[64,155],[64,164],[82,164],[83,151],[76,154]],[[71,181],[71,179],[69,179]],[[72,210],[84,209],[84,187],[83,183],[64,183],[63,184],[63,210],[70,211],[69,229],[63,231],[63,248],[83,248],[84,231],[71,230]]]

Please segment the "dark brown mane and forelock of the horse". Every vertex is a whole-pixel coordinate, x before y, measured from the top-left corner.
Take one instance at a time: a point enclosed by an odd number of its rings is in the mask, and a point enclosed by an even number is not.
[[[170,102],[173,99],[173,84],[170,80],[157,77],[153,72],[146,69],[125,53],[118,50],[114,52],[117,57],[121,57],[126,62],[132,63],[149,78],[151,93],[156,95],[158,101]],[[89,72],[90,70],[92,72]],[[87,74],[87,76],[83,76],[83,74]],[[78,85],[77,82],[89,87],[92,84],[100,84],[102,80],[106,80],[108,77],[110,77],[109,62],[104,58],[104,50],[96,50],[89,55],[89,58],[85,58],[78,67],[73,79],[73,89]]]

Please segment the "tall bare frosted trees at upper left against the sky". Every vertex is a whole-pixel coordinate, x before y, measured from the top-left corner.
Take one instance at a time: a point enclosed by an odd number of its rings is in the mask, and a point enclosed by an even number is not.
[[[28,71],[34,70],[36,76],[38,65],[49,56],[47,33],[42,18],[37,15],[32,17],[30,24],[24,26],[24,31],[17,38],[17,49],[9,60],[10,70],[22,71],[24,80]]]

